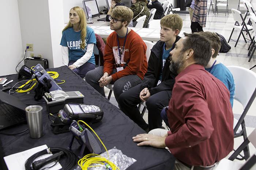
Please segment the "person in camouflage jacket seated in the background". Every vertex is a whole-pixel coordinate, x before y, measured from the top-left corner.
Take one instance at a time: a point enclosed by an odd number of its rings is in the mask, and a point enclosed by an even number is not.
[[[133,12],[132,22],[135,22],[139,17],[143,15],[147,16],[143,24],[144,27],[148,17],[150,16],[150,12],[147,8],[147,0],[132,0],[130,9]]]

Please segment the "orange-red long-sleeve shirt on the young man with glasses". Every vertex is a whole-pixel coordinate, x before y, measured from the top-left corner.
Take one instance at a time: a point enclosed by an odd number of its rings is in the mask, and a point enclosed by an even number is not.
[[[120,51],[123,51],[125,37],[118,37]],[[126,37],[124,54],[121,55],[121,62],[118,53],[117,33],[112,32],[107,39],[104,55],[103,73],[112,74],[113,69],[118,64],[124,67],[124,70],[118,71],[112,75],[114,81],[127,75],[138,75],[143,79],[147,71],[147,46],[142,38],[133,30]]]

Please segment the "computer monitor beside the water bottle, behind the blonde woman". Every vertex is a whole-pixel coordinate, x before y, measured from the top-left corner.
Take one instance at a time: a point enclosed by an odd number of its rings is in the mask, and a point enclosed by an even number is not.
[[[82,3],[83,3],[84,12],[87,19],[89,18],[88,15],[90,11],[91,11],[92,18],[101,15],[99,13],[99,8],[96,0],[83,0]]]

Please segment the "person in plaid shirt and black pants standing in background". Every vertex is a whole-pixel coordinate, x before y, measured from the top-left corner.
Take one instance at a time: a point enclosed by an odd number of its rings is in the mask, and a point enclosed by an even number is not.
[[[193,11],[191,32],[203,32],[203,27],[206,27],[207,0],[195,0]]]

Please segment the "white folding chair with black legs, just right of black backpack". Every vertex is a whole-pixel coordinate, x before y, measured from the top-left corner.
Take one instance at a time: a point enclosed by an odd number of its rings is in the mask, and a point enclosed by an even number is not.
[[[232,32],[231,32],[231,34],[230,34],[230,37],[229,37],[229,40],[227,41],[227,43],[229,43],[229,41],[230,41],[230,39],[231,39],[231,36],[232,36],[232,34],[233,34],[233,32],[234,32],[234,29],[237,29],[238,31],[240,31],[239,36],[238,36],[237,41],[236,41],[236,44],[235,44],[235,47],[237,46],[237,43],[238,43],[238,40],[239,40],[241,34],[242,34],[242,36],[244,37],[245,43],[247,43],[243,31],[246,31],[246,32],[248,33],[248,35],[249,35],[249,37],[250,37],[250,39],[248,39],[248,40],[252,41],[252,37],[251,37],[251,35],[250,35],[250,33],[249,33],[249,31],[252,30],[252,26],[251,26],[251,25],[248,25],[248,24],[245,24],[245,20],[244,20],[244,18],[242,17],[242,13],[241,13],[240,11],[238,11],[238,10],[236,10],[236,9],[231,9],[231,11],[232,11],[232,13],[233,13],[233,18],[234,18],[234,20],[235,20],[236,22],[235,22],[235,24],[234,24],[234,26],[233,26]],[[241,25],[239,24],[239,22],[241,23]],[[232,40],[232,39],[231,39],[231,40]],[[234,40],[233,40],[233,41],[234,41]]]

